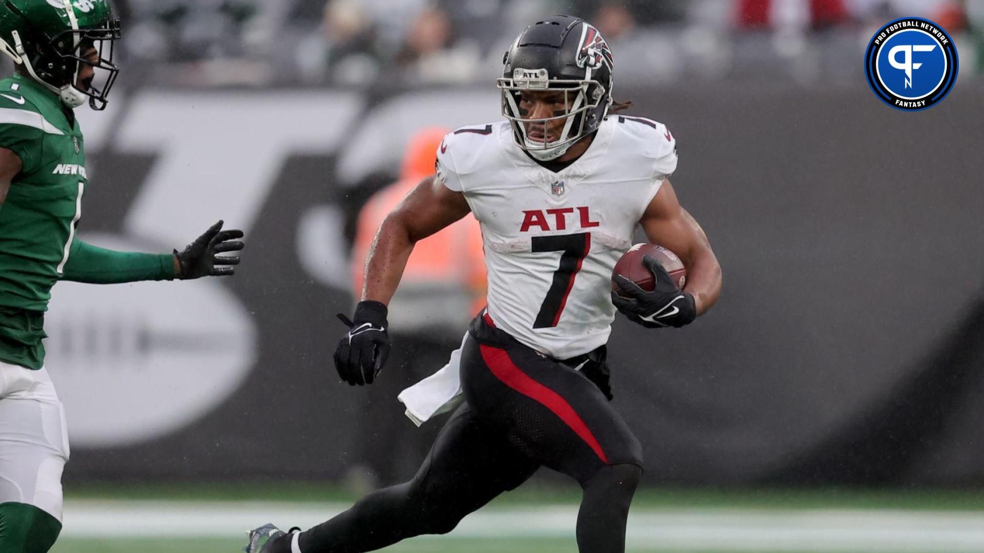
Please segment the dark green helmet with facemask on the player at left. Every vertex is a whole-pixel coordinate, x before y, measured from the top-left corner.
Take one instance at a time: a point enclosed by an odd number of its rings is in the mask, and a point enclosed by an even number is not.
[[[68,107],[105,109],[119,37],[108,0],[0,0],[0,50]]]

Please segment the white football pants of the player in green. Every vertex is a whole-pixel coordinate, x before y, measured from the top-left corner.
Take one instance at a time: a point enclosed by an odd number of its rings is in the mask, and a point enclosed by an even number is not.
[[[26,503],[61,522],[68,456],[65,407],[48,371],[0,362],[0,503]]]

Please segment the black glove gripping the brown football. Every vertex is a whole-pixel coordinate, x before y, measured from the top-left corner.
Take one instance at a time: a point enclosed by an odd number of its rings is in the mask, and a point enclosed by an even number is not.
[[[624,298],[612,292],[615,307],[631,321],[649,329],[679,328],[693,323],[697,319],[694,296],[681,291],[656,259],[643,256],[643,263],[655,276],[653,290],[647,292],[625,276],[615,276],[619,288],[632,296]]]

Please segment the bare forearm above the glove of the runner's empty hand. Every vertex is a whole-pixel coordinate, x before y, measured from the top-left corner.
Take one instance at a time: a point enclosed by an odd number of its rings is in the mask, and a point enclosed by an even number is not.
[[[389,305],[400,285],[400,277],[406,268],[415,241],[402,215],[394,212],[387,216],[376,232],[369,248],[362,279],[362,301],[372,300]]]

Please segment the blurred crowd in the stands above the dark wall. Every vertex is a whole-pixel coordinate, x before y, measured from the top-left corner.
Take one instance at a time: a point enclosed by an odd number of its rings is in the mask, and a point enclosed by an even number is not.
[[[420,86],[485,82],[538,16],[584,17],[634,71],[620,80],[856,74],[845,64],[903,16],[950,31],[982,64],[984,0],[115,0],[128,61],[167,84]],[[854,57],[852,57],[854,56]],[[147,64],[136,64],[146,67]]]

